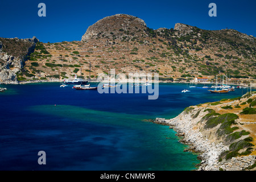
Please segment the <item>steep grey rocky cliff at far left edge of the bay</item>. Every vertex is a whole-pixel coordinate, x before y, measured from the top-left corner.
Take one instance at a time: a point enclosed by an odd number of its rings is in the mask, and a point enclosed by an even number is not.
[[[0,38],[0,83],[18,84],[16,73],[24,67],[27,56],[34,52],[39,40]]]

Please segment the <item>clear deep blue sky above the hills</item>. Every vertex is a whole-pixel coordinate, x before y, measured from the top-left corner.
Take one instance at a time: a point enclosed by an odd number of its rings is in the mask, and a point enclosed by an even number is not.
[[[46,17],[38,16],[40,2],[46,4]],[[211,2],[217,5],[217,17],[208,15]],[[1,0],[0,37],[81,40],[90,25],[114,14],[138,16],[153,29],[185,23],[205,30],[228,27],[256,37],[255,0]]]

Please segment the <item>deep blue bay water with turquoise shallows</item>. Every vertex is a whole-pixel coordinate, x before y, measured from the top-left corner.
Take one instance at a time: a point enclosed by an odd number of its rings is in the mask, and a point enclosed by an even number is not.
[[[211,94],[185,84],[160,84],[148,94],[99,94],[59,83],[5,85],[0,93],[0,170],[192,170],[197,155],[183,152],[168,126],[185,107],[246,93]],[[200,85],[197,85],[200,86]],[[203,86],[203,85],[201,85]],[[38,152],[46,152],[46,165]]]

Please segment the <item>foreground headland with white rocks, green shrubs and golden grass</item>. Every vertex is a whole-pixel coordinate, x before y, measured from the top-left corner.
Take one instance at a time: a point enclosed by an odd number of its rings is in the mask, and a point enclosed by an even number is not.
[[[172,119],[154,122],[170,125],[188,150],[200,152],[199,170],[256,169],[256,92],[187,107]]]

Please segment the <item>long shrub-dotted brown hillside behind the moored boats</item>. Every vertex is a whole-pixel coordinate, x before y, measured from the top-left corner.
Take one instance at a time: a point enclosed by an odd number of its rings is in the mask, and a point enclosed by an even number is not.
[[[117,14],[88,27],[81,41],[38,42],[16,78],[60,81],[76,74],[86,78],[90,62],[92,78],[115,69],[116,74],[159,73],[160,80],[166,81],[193,77],[213,81],[217,74],[228,74],[242,78],[236,82],[249,83],[256,78],[255,57],[256,38],[236,30],[202,30],[182,23],[153,30],[142,19]]]

